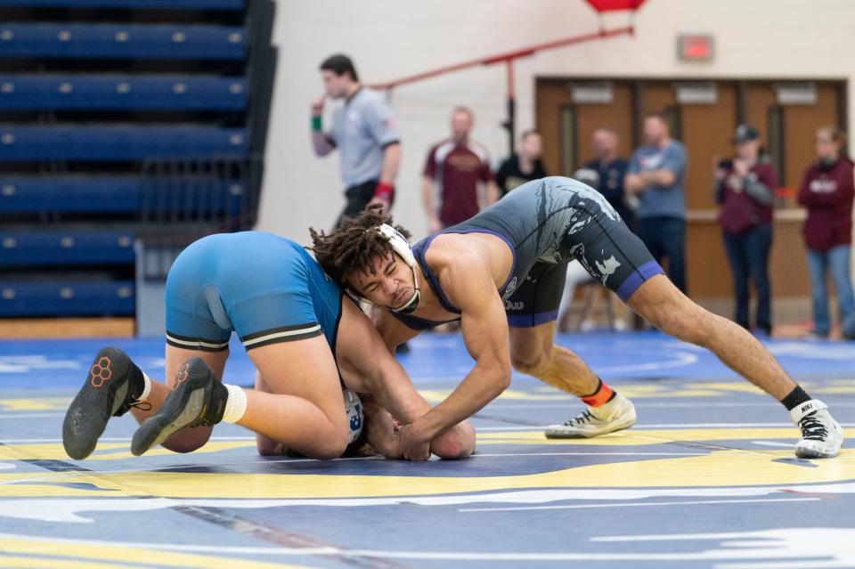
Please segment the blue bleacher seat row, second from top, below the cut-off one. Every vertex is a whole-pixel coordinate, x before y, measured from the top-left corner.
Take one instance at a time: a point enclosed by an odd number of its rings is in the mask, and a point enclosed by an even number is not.
[[[242,60],[243,28],[162,24],[0,24],[0,57]]]

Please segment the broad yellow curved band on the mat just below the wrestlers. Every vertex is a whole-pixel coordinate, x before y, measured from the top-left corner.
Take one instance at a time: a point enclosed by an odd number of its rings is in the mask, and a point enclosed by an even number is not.
[[[779,429],[692,429],[639,431],[615,435],[647,443],[671,440],[737,440],[769,436]],[[782,429],[780,429],[782,430]],[[678,435],[676,438],[675,434]],[[729,437],[727,435],[730,435]],[[482,440],[531,443],[531,432],[489,433]],[[499,439],[499,437],[504,437]],[[652,440],[652,442],[650,442]],[[604,439],[599,439],[600,443]],[[637,442],[635,442],[637,443]],[[230,444],[234,448],[235,443]],[[589,443],[590,444],[590,443]],[[210,446],[216,447],[216,443]],[[14,447],[12,447],[14,448]],[[222,447],[221,447],[222,448]],[[21,450],[17,448],[16,450]],[[703,450],[700,450],[703,452]],[[50,456],[46,453],[43,457]],[[344,498],[487,492],[527,488],[642,488],[738,485],[788,485],[840,482],[855,479],[855,451],[844,450],[838,459],[813,461],[815,467],[775,462],[791,459],[792,451],[711,451],[702,456],[622,460],[609,464],[572,467],[518,476],[342,476],[291,474],[282,463],[281,474],[199,472],[68,472],[9,473],[0,475],[0,496],[161,496],[175,498]],[[568,460],[573,460],[568,458]],[[204,464],[204,460],[201,461]],[[132,467],[133,460],[122,461]],[[68,486],[67,484],[81,484]],[[86,488],[91,484],[93,488]]]

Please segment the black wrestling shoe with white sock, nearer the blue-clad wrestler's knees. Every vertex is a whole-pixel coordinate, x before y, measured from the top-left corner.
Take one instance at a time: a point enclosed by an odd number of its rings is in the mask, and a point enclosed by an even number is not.
[[[184,427],[216,425],[223,420],[228,398],[229,390],[214,378],[208,364],[201,358],[190,358],[178,370],[172,393],[157,414],[136,429],[131,452],[140,456]]]

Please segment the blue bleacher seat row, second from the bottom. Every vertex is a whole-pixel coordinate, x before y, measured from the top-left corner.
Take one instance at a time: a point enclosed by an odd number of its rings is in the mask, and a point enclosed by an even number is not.
[[[0,266],[133,262],[129,232],[0,232]]]

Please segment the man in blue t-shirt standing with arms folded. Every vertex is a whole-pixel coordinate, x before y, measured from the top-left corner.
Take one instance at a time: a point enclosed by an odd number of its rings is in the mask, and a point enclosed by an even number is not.
[[[668,277],[686,292],[686,150],[671,138],[662,115],[644,118],[645,145],[635,150],[623,181],[639,197],[639,237]]]

